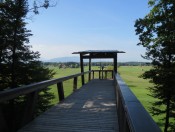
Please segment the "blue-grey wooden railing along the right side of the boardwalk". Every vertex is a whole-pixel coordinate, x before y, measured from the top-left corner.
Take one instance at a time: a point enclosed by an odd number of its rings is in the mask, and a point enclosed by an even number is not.
[[[114,76],[120,132],[160,132],[136,96],[118,74]]]

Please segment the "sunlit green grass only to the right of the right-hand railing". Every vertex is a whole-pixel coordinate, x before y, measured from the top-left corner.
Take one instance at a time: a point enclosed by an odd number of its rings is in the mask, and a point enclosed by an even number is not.
[[[149,80],[142,79],[139,76],[150,68],[150,66],[121,66],[118,70],[122,79],[126,82],[126,84],[129,86],[138,100],[142,103],[148,113],[150,113],[149,108],[152,105],[151,103],[156,101],[155,98],[148,95],[150,94],[148,88],[153,86],[153,84],[149,83]],[[152,116],[154,121],[163,130],[164,121],[161,120],[162,117],[164,116]]]

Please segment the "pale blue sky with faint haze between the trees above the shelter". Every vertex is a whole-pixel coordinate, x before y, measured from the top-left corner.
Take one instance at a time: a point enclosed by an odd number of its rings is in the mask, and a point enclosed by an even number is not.
[[[77,56],[84,50],[119,50],[120,62],[146,61],[137,46],[134,23],[150,10],[148,0],[52,0],[55,7],[40,9],[28,21],[30,45],[42,59]]]

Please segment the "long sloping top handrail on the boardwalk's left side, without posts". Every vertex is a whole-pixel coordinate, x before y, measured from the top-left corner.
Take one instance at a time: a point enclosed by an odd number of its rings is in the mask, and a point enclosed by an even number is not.
[[[40,90],[42,90],[50,85],[66,81],[66,80],[72,79],[74,77],[84,75],[86,73],[91,73],[91,71],[78,73],[78,74],[74,74],[74,75],[70,75],[70,76],[66,76],[66,77],[62,77],[62,78],[46,80],[46,81],[33,83],[30,85],[26,85],[26,86],[21,86],[21,87],[14,88],[14,89],[8,89],[5,91],[1,91],[0,92],[0,102],[4,102],[7,100],[16,98],[20,95],[29,94],[29,93],[34,92],[34,91],[40,91]]]

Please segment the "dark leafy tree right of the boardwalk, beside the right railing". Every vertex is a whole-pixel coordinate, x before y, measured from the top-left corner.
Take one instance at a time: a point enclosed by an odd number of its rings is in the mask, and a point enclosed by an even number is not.
[[[148,4],[150,12],[135,23],[138,45],[146,48],[143,57],[153,65],[142,77],[154,84],[149,90],[158,100],[153,103],[151,113],[165,114],[167,132],[174,129],[170,118],[175,119],[175,1],[149,0]]]

